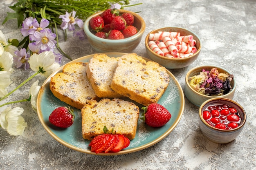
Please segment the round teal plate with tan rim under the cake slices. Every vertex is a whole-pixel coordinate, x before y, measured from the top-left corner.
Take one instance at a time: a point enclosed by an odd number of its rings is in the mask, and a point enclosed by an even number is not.
[[[109,57],[120,57],[126,53],[104,54],[108,55]],[[71,62],[89,62],[93,55],[87,55]],[[144,60],[150,61],[146,58],[144,58]],[[59,143],[79,152],[96,155],[96,153],[90,151],[90,147],[88,146],[90,141],[83,139],[82,137],[81,110],[73,108],[76,118],[74,119],[73,125],[69,128],[57,128],[49,123],[48,117],[52,111],[59,106],[67,105],[57,99],[49,89],[50,77],[58,72],[61,72],[62,69],[63,66],[52,73],[52,75],[45,80],[38,93],[37,113],[39,120],[49,135],[51,135]],[[130,145],[127,148],[115,153],[99,153],[97,155],[122,155],[148,148],[164,139],[175,128],[175,126],[177,126],[184,111],[184,94],[177,79],[171,72],[168,70],[167,72],[170,76],[170,82],[158,103],[167,108],[167,110],[171,113],[171,120],[160,128],[151,128],[139,119],[135,139],[130,141]],[[142,107],[140,104],[135,104],[139,108]],[[141,110],[140,115],[142,112],[143,111]]]

